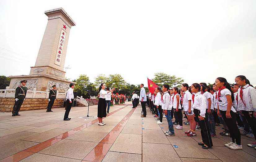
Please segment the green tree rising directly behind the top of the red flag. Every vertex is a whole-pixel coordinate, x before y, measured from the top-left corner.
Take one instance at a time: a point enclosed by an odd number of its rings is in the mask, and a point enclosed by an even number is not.
[[[162,87],[164,84],[173,85],[172,77],[166,73],[155,73],[155,77],[152,79],[158,86]]]

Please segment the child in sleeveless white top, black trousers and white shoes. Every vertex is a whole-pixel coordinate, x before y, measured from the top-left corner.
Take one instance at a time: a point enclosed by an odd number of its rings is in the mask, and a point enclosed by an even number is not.
[[[174,87],[172,89],[172,92],[174,93],[173,97],[171,98],[173,103],[173,108],[176,113],[175,119],[177,118],[177,121],[179,122],[179,125],[176,126],[176,129],[183,129],[183,115],[181,111],[181,105],[180,105],[180,97],[179,97],[179,89],[177,87]]]

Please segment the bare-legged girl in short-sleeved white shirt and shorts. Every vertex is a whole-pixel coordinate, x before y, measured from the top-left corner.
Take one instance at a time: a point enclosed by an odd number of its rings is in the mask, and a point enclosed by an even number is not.
[[[191,108],[192,94],[189,92],[189,86],[187,83],[183,83],[181,85],[181,90],[183,91],[183,96],[181,98],[181,102],[183,105],[183,110],[188,117],[188,121],[190,123],[190,129],[185,131],[190,137],[196,136],[196,121],[194,119],[193,108]]]

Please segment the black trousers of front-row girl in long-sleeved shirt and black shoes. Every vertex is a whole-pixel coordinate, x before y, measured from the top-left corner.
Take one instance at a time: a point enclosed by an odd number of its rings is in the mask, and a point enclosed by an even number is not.
[[[193,110],[196,119],[199,121],[199,126],[201,128],[201,136],[202,136],[202,141],[203,143],[205,143],[208,147],[212,147],[212,138],[211,138],[211,134],[210,134],[210,129],[208,127],[208,118],[207,118],[207,112],[205,113],[205,120],[199,120],[200,116],[200,111],[197,109]]]

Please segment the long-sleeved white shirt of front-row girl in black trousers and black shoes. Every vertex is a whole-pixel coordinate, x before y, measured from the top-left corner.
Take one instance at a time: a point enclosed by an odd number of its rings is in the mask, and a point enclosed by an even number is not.
[[[200,116],[205,118],[206,101],[205,97],[202,95],[200,91],[195,93],[194,102],[192,101],[191,108],[200,110]]]

